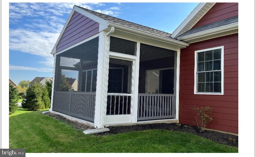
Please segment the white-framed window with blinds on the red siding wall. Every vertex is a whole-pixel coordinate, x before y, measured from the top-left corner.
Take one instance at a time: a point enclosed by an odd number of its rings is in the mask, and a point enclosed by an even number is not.
[[[224,46],[195,51],[194,94],[223,94]]]

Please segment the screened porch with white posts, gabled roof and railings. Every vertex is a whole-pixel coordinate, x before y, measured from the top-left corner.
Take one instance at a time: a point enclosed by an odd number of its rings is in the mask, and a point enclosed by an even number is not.
[[[95,128],[178,122],[186,46],[169,33],[74,6],[52,51],[50,111]]]

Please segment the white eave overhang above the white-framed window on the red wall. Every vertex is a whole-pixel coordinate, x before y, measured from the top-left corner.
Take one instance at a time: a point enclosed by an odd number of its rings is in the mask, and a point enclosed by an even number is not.
[[[216,27],[213,29],[208,29],[205,31],[193,33],[190,35],[185,35],[182,37],[178,37],[177,39],[187,43],[195,43],[198,41],[213,39],[216,37],[222,37],[225,35],[230,35],[235,33],[238,33],[238,22],[234,24],[229,24],[226,26]]]

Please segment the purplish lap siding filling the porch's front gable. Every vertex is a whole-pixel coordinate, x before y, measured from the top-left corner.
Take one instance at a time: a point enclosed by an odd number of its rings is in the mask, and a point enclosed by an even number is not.
[[[80,41],[91,37],[99,32],[99,24],[78,12],[74,12],[66,27],[56,52],[60,52]]]

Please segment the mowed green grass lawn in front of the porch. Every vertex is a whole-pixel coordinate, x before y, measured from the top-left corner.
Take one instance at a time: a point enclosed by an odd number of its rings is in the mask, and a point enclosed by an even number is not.
[[[146,130],[115,135],[85,135],[65,122],[19,108],[10,115],[9,147],[26,153],[237,153],[191,133]]]

